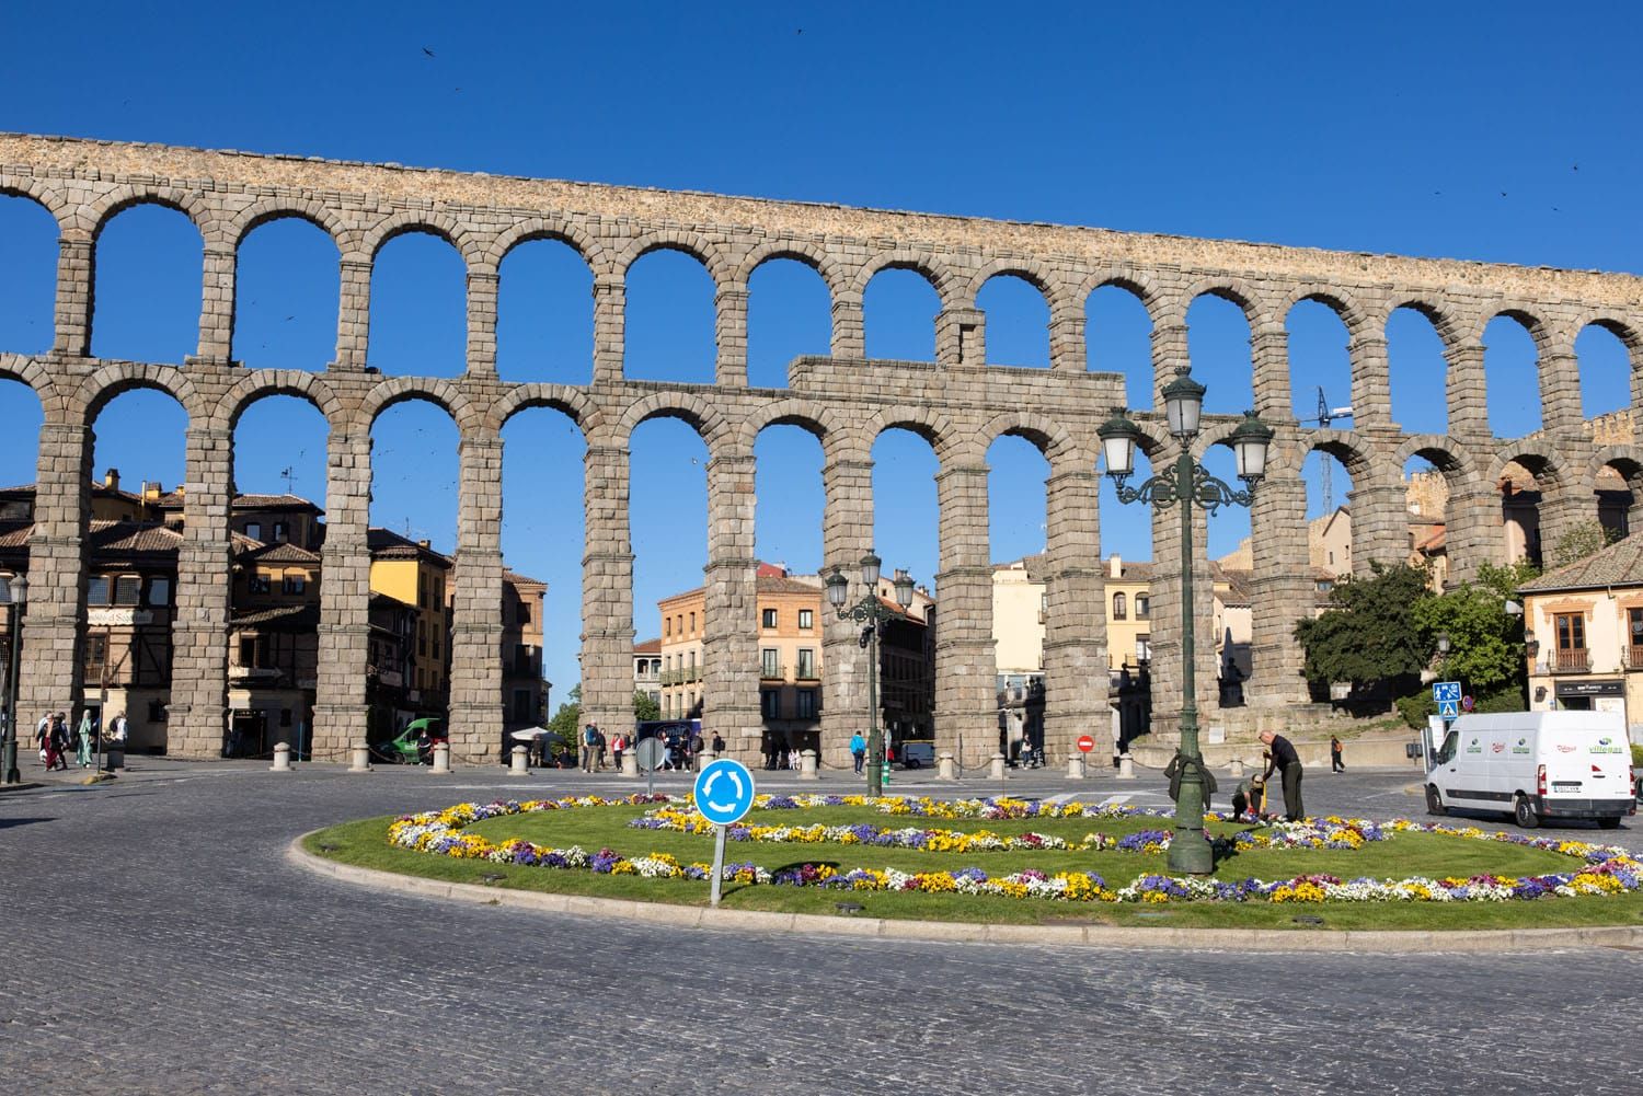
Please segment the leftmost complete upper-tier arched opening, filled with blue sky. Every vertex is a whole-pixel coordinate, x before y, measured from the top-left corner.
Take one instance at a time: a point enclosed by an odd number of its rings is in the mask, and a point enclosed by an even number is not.
[[[122,210],[97,233],[92,355],[182,365],[199,348],[205,245],[168,205]]]

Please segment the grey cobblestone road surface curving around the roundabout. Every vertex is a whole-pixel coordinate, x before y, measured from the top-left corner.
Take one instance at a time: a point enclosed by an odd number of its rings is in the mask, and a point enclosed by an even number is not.
[[[1308,805],[1411,813],[1411,781],[1314,774]],[[664,932],[376,894],[281,859],[345,818],[588,785],[633,787],[133,759],[112,784],[0,794],[0,1091],[1638,1091],[1638,951]],[[1162,802],[1155,776],[1009,790]],[[1636,846],[1638,823],[1618,836]]]

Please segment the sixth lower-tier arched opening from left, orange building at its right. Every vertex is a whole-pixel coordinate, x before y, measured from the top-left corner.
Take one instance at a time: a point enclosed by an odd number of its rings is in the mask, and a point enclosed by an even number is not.
[[[662,718],[697,720],[706,695],[708,447],[688,422],[667,417],[639,424],[631,452],[634,634],[662,638]]]

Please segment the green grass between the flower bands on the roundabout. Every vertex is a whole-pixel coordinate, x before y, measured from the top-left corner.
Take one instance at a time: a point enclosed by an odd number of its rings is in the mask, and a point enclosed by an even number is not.
[[[537,845],[580,845],[588,851],[613,848],[626,856],[670,853],[680,863],[706,863],[713,856],[711,838],[667,830],[634,830],[626,823],[644,813],[642,807],[596,807],[490,818],[467,830],[491,841],[524,838]],[[642,879],[605,876],[590,871],[555,871],[516,868],[486,861],[453,859],[393,848],[386,840],[391,817],[343,823],[307,838],[307,850],[340,863],[426,876],[452,882],[481,882],[555,894],[637,899],[705,905],[706,882],[682,879]],[[946,830],[991,830],[994,833],[1053,833],[1076,841],[1086,833],[1124,835],[1145,828],[1168,828],[1168,820],[1153,818],[1033,818],[1033,820],[937,820],[882,815],[863,807],[823,807],[808,810],[754,812],[749,822],[761,825],[849,825],[872,822],[881,827],[915,825]],[[1232,827],[1211,827],[1227,831]],[[1594,835],[1595,838],[1595,835]],[[327,848],[329,846],[329,848]],[[989,874],[1006,874],[1025,868],[1055,871],[1094,871],[1112,889],[1142,874],[1167,871],[1162,854],[1083,853],[1083,851],[1001,851],[1001,853],[925,853],[917,850],[863,848],[851,845],[772,845],[754,841],[726,843],[728,861],[752,861],[769,869],[803,863],[851,868],[899,868],[902,871],[937,871],[976,866]],[[1441,835],[1401,833],[1388,841],[1365,845],[1359,851],[1245,851],[1217,863],[1221,879],[1288,879],[1303,873],[1341,877],[1405,876],[1472,876],[1480,873],[1526,876],[1571,871],[1579,861],[1526,850],[1513,845],[1467,841]],[[491,879],[486,879],[491,876]],[[1323,917],[1331,928],[1533,928],[1554,925],[1643,925],[1643,894],[1589,899],[1539,899],[1535,902],[1477,904],[1107,904],[1012,900],[992,896],[915,894],[915,892],[845,892],[817,887],[774,887],[726,884],[723,904],[729,909],[835,914],[838,902],[858,902],[863,915],[927,920],[971,920],[996,923],[1094,923],[1094,925],[1176,925],[1222,928],[1291,928],[1295,917]]]

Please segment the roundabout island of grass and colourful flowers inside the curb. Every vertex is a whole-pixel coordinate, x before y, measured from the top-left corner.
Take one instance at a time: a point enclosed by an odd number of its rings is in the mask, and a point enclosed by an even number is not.
[[[1306,935],[1643,925],[1643,864],[1618,846],[1208,813],[1214,873],[1178,876],[1165,861],[1168,817],[1076,800],[759,795],[726,827],[723,905],[805,915],[812,928],[882,919],[1038,925],[1047,937],[1068,923]],[[711,846],[693,799],[664,794],[465,802],[302,840],[311,858],[440,886],[660,907],[708,904]]]

